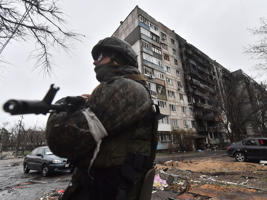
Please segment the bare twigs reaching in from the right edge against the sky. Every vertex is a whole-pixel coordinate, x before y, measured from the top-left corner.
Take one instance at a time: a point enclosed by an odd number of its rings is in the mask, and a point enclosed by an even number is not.
[[[257,59],[260,63],[253,67],[262,76],[267,73],[267,18],[260,18],[261,26],[259,28],[248,29],[253,36],[257,36],[259,40],[249,47],[243,47],[244,53],[251,59]]]

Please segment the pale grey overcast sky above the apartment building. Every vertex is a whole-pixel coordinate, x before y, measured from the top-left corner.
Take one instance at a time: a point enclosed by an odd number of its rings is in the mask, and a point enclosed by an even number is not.
[[[35,61],[27,61],[34,43],[11,40],[2,52],[14,66],[8,66],[0,74],[1,107],[10,99],[42,100],[50,84],[60,87],[55,100],[90,94],[98,85],[91,58],[93,46],[111,36],[136,5],[223,67],[231,71],[241,68],[249,76],[256,75],[250,71],[256,61],[242,54],[242,47],[257,41],[247,28],[259,27],[259,18],[267,17],[267,0],[64,0],[59,3],[72,24],[69,30],[76,30],[88,39],[77,45],[71,57],[64,51],[55,52],[57,66],[51,78],[44,78],[40,69],[32,71]],[[14,123],[19,119],[20,115],[11,116],[0,109],[0,127],[5,121]],[[23,116],[27,127],[42,126],[46,121],[47,116],[43,115]]]

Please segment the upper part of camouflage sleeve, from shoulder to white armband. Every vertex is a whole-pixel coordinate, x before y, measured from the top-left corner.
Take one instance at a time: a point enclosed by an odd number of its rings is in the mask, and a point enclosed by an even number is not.
[[[108,134],[119,133],[150,111],[150,94],[140,83],[119,78],[95,88],[88,105]]]

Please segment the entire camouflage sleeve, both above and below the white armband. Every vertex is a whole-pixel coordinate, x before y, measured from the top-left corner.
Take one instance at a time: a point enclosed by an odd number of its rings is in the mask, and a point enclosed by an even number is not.
[[[145,87],[130,79],[120,78],[100,83],[87,105],[98,117],[108,134],[121,133],[150,111],[150,95]],[[50,115],[46,137],[54,154],[88,165],[96,148],[87,121],[78,110]],[[88,159],[82,159],[84,156]],[[84,163],[83,163],[84,162]]]

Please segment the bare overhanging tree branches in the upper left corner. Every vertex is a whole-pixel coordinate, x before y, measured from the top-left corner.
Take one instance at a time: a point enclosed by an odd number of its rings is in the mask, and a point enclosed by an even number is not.
[[[67,54],[82,42],[84,35],[69,31],[59,0],[0,0],[0,55],[8,42],[35,41],[36,49],[29,59],[36,59],[33,67],[41,67],[51,75],[54,59],[52,50],[63,49]],[[0,57],[0,62],[4,61]],[[0,66],[3,67],[3,66]]]

